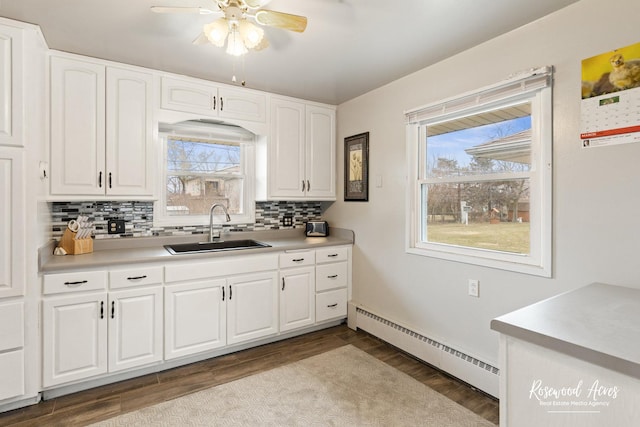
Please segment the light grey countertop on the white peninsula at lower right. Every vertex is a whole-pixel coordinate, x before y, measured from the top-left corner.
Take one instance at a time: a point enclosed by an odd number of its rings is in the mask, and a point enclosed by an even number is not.
[[[593,283],[493,319],[491,329],[640,378],[640,289]]]

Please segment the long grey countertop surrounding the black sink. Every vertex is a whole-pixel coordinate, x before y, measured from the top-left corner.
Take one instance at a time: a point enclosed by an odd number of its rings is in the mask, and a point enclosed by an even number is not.
[[[221,240],[254,239],[270,245],[236,251],[204,252],[171,255],[163,245],[205,241],[206,235],[170,237],[134,237],[94,241],[94,251],[82,255],[53,255],[55,242],[40,249],[40,273],[106,268],[134,263],[166,263],[174,261],[215,259],[223,256],[249,255],[274,251],[316,249],[324,246],[350,245],[354,242],[351,230],[331,228],[327,237],[306,237],[304,229],[232,232]]]

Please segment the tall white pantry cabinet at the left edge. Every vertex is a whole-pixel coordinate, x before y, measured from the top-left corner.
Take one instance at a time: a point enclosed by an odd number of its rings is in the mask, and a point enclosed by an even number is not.
[[[36,200],[45,141],[38,27],[0,18],[0,407],[38,399]],[[26,114],[28,111],[29,114]],[[33,284],[34,286],[30,286]]]

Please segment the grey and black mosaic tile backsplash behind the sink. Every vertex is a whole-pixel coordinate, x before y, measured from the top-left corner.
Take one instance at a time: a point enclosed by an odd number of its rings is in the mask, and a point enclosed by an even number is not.
[[[52,202],[52,238],[59,239],[67,223],[78,215],[89,217],[94,223],[96,239],[118,237],[171,236],[205,234],[209,224],[196,226],[154,227],[153,202]],[[322,215],[321,202],[256,202],[256,218],[253,224],[216,225],[224,231],[257,231],[280,228],[300,228],[309,220]],[[283,226],[285,216],[293,217],[293,225]],[[108,234],[107,223],[111,219],[125,221],[125,234]]]

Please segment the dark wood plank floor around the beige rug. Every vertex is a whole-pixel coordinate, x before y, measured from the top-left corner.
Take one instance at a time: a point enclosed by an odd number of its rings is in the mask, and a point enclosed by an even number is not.
[[[336,326],[40,402],[0,414],[0,426],[84,426],[352,344],[498,424],[498,401],[363,331]]]

